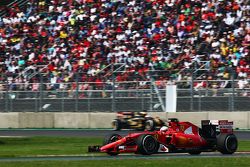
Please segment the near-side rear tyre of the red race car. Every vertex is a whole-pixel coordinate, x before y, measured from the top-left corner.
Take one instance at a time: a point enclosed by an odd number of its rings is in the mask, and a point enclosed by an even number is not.
[[[238,140],[234,134],[220,134],[217,137],[217,150],[222,154],[233,154],[238,148]]]

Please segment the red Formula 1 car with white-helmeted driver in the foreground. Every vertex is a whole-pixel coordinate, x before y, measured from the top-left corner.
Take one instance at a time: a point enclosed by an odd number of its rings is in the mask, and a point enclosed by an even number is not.
[[[202,127],[170,119],[168,127],[159,131],[130,133],[125,137],[108,135],[103,146],[89,146],[89,152],[105,152],[109,155],[136,153],[150,155],[155,153],[189,153],[219,151],[233,154],[238,141],[233,134],[233,122],[227,120],[203,120]]]

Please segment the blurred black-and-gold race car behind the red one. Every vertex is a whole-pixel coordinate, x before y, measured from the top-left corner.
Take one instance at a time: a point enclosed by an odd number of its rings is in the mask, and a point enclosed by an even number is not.
[[[147,112],[118,112],[117,118],[111,124],[113,130],[136,129],[152,131],[165,125],[165,122],[159,117],[148,116]]]

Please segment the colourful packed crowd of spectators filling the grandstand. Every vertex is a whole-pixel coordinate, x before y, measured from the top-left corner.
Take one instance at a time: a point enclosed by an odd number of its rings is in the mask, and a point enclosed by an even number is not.
[[[124,66],[117,81],[149,81],[148,71],[156,80],[188,80],[200,68],[202,80],[233,76],[243,89],[249,8],[245,0],[29,0],[0,17],[0,80],[41,82],[31,71],[46,73],[46,89],[76,78],[98,89],[114,63]]]

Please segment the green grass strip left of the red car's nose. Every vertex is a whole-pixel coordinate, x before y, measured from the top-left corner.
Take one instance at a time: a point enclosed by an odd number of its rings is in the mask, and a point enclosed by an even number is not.
[[[23,137],[0,138],[0,157],[86,154],[89,145],[102,143],[102,138]]]

